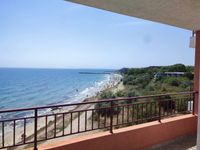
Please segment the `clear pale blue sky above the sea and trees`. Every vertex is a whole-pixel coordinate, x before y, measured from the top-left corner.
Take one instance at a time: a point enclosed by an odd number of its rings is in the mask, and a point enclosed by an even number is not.
[[[194,64],[191,31],[64,0],[0,0],[0,67]]]

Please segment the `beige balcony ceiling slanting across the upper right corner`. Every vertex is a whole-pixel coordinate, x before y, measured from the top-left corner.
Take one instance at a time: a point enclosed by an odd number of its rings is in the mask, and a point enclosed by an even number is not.
[[[67,0],[111,12],[200,30],[200,0]]]

